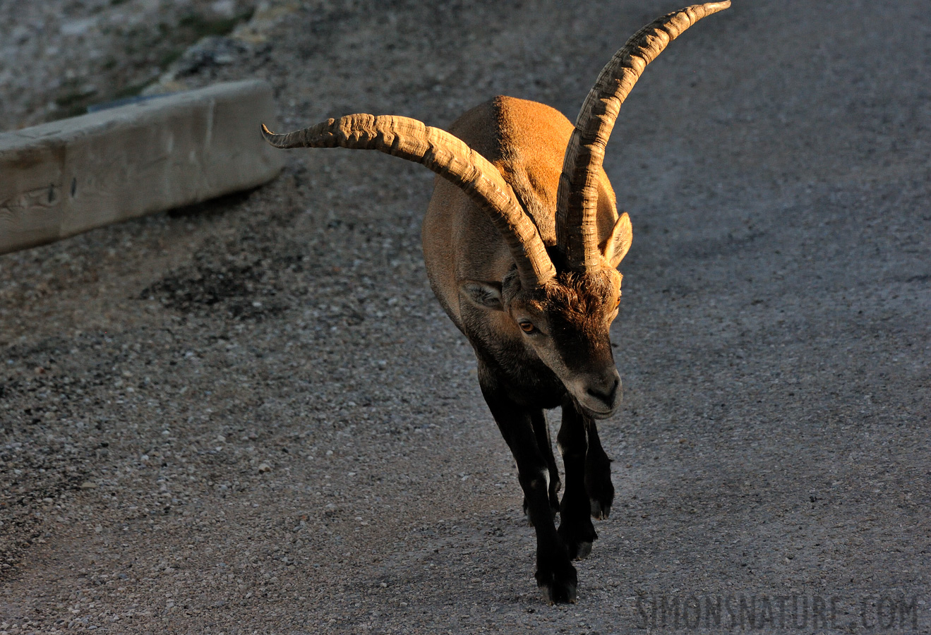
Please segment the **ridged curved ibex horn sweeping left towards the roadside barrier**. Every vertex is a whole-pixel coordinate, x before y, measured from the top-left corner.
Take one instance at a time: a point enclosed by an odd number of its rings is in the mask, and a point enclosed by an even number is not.
[[[445,130],[409,117],[346,115],[289,134],[275,134],[263,125],[262,134],[277,148],[359,148],[420,163],[458,185],[489,213],[526,288],[556,276],[536,225],[520,207],[501,172]]]

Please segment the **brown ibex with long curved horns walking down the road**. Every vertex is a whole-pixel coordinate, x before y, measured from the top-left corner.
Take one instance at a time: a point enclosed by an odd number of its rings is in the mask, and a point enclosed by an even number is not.
[[[372,115],[284,135],[263,126],[279,148],[380,150],[443,177],[424,221],[426,270],[475,349],[482,395],[517,461],[546,601],[575,601],[572,561],[586,557],[597,537],[590,516],[606,518],[614,500],[595,420],[621,399],[609,327],[631,227],[626,213],[618,216],[601,168],[604,147],[646,65],[697,20],[729,6],[686,7],[634,34],[601,71],[574,128],[548,106],[510,97],[473,108],[449,132]],[[557,406],[561,503],[544,415]]]

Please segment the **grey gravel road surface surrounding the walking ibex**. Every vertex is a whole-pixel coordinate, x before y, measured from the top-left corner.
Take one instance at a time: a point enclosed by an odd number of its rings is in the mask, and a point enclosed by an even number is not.
[[[499,93],[573,117],[678,8],[435,4],[265,4],[159,64],[93,25],[256,7],[3,3],[0,128],[55,114],[64,47],[101,95],[264,77],[282,128],[447,126]],[[931,20],[798,6],[697,25],[614,129],[625,403],[577,604],[539,599],[513,461],[426,283],[432,175],[320,150],[0,256],[0,633],[931,630]]]

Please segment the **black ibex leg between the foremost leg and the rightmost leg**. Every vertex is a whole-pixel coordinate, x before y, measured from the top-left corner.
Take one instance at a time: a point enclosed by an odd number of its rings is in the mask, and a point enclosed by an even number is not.
[[[586,489],[587,417],[575,410],[572,399],[562,404],[562,426],[557,440],[566,468],[566,492],[560,505],[560,536],[570,558],[586,558],[598,537],[591,523]]]

